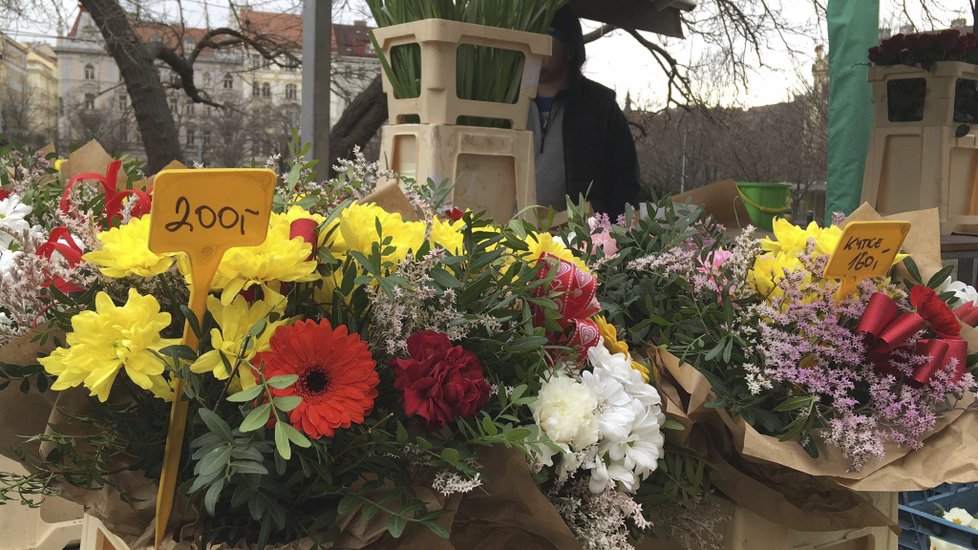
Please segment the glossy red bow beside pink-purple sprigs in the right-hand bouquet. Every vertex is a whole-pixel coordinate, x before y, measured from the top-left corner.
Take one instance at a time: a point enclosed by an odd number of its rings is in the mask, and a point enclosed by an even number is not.
[[[926,356],[928,360],[914,369],[911,378],[918,384],[927,384],[935,372],[946,369],[952,360],[956,360],[953,378],[960,379],[966,369],[968,344],[958,338],[960,327],[957,322],[954,321],[953,324],[957,331],[947,322],[947,314],[951,315],[952,320],[954,314],[927,287],[914,287],[910,300],[917,308],[916,313],[901,312],[892,298],[880,292],[869,299],[866,311],[856,327],[856,332],[866,339],[869,359],[880,370],[892,371],[890,355],[898,349],[908,349],[907,342],[929,324],[938,337],[917,340],[913,353]],[[946,313],[944,310],[947,310]]]

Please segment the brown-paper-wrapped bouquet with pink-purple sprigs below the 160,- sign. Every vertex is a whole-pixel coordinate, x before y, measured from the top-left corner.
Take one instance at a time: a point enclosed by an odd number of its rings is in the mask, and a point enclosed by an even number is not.
[[[909,258],[843,293],[824,276],[841,220],[731,240],[702,211],[648,210],[572,217],[569,231],[588,235],[608,320],[652,350],[685,427],[671,443],[710,463],[714,487],[781,525],[833,531],[893,525],[860,492],[978,480],[978,340],[963,322],[978,304],[941,267],[936,211],[888,217],[912,224]]]

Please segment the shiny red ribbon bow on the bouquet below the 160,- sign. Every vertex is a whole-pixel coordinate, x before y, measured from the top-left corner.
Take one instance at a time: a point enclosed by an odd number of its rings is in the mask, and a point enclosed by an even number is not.
[[[866,340],[868,356],[883,372],[893,370],[890,355],[898,349],[908,349],[907,342],[927,327],[927,320],[918,313],[901,312],[889,296],[877,292],[869,299],[866,311],[859,319],[856,332]],[[935,338],[917,340],[913,353],[928,358],[927,362],[914,369],[912,380],[927,384],[935,372],[947,369],[952,360],[957,360],[953,379],[964,376],[968,355],[968,344],[958,338]]]

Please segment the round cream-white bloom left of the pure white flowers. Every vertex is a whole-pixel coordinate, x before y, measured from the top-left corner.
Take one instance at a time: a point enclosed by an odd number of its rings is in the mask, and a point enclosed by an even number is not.
[[[597,401],[590,388],[557,374],[543,384],[530,410],[543,435],[569,453],[571,448],[581,450],[598,442],[598,420],[594,416]],[[553,465],[550,457],[541,459],[547,466]]]

